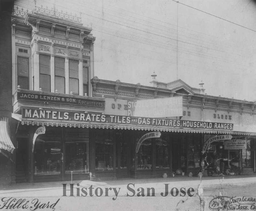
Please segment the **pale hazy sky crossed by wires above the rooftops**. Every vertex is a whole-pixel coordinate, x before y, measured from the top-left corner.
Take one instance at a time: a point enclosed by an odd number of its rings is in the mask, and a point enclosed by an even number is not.
[[[207,95],[256,101],[256,2],[36,0],[92,27],[94,75],[150,86],[181,79]],[[34,9],[33,0],[15,5]]]

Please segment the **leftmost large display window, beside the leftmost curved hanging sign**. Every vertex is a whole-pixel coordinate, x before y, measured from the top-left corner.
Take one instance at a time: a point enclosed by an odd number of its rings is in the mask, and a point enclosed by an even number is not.
[[[60,174],[61,144],[38,139],[34,148],[34,174]]]

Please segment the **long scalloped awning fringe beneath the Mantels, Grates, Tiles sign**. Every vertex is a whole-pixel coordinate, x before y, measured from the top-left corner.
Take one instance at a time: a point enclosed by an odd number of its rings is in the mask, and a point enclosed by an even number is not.
[[[45,126],[61,126],[61,127],[78,127],[78,128],[102,128],[102,129],[125,129],[125,130],[144,130],[144,131],[163,131],[163,132],[185,132],[185,133],[213,133],[213,134],[231,134],[231,135],[250,135],[256,136],[253,132],[225,131],[212,129],[194,129],[194,128],[178,128],[178,127],[161,127],[161,126],[144,126],[144,125],[125,125],[125,124],[109,124],[96,122],[74,122],[74,121],[45,121],[35,119],[22,118],[22,125],[45,125]]]

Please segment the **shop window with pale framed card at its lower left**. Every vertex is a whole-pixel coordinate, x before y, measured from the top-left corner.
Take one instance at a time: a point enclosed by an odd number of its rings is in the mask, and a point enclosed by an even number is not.
[[[110,131],[96,132],[96,157],[95,157],[95,170],[96,171],[109,171],[113,170],[114,166],[114,147],[113,138]]]

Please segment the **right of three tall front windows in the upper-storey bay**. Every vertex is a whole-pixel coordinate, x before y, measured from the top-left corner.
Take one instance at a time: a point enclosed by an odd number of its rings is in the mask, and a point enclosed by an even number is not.
[[[79,77],[78,77],[78,64],[77,60],[69,59],[69,90],[73,94],[79,94]]]

